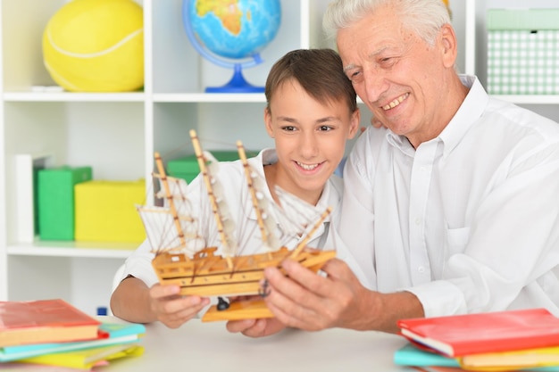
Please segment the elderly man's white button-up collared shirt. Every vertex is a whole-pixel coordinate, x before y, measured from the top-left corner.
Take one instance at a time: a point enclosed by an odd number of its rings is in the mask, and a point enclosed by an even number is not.
[[[461,79],[471,90],[436,138],[357,140],[339,233],[373,288],[414,293],[428,317],[559,316],[559,124]]]

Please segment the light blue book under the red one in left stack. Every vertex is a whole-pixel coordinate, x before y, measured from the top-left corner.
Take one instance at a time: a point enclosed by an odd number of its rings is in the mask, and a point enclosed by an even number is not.
[[[117,343],[135,343],[146,333],[146,327],[136,323],[103,323],[95,340],[75,343],[33,343],[0,348],[0,362],[21,360],[54,352],[77,351]]]

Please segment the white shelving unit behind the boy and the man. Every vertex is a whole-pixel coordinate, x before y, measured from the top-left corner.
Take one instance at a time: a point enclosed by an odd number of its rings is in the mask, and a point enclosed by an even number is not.
[[[458,67],[478,73],[482,81],[485,9],[496,2],[451,0],[461,45]],[[18,241],[16,154],[47,153],[53,165],[90,165],[95,179],[136,180],[149,178],[154,150],[182,155],[177,149],[188,143],[190,128],[223,144],[240,138],[251,149],[272,142],[263,128],[263,94],[203,93],[206,86],[225,84],[231,71],[205,61],[189,44],[181,0],[138,0],[144,8],[142,92],[33,92],[33,86],[54,85],[43,65],[41,37],[46,22],[65,3],[0,3],[0,301],[61,297],[94,313],[96,306],[108,306],[113,273],[137,244]],[[328,3],[281,0],[279,34],[263,50],[263,64],[244,71],[246,79],[263,85],[271,64],[288,50],[332,46],[321,37]],[[552,113],[559,103],[555,96],[504,98],[537,103],[534,107]],[[364,109],[362,116],[367,125],[369,112]]]

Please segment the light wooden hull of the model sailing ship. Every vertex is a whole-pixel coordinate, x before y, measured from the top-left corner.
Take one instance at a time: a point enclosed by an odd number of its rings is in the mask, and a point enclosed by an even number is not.
[[[256,294],[262,291],[263,270],[280,267],[291,254],[287,248],[276,252],[231,257],[213,255],[215,248],[206,248],[193,259],[182,253],[163,252],[152,261],[162,285],[179,285],[182,295],[229,296]],[[317,272],[336,256],[335,251],[303,251],[294,260]]]

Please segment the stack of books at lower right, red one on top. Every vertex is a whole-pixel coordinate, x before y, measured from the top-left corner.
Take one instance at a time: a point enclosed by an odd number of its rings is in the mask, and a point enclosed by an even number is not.
[[[559,371],[559,318],[506,310],[398,321],[409,343],[394,362],[424,371]]]

